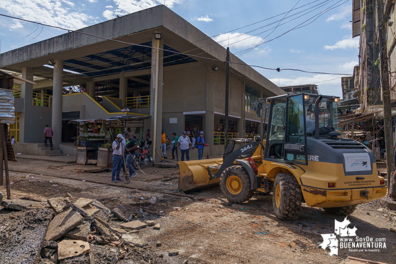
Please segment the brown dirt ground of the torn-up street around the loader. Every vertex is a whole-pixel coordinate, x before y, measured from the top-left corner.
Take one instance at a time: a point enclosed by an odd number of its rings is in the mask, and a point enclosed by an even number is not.
[[[58,167],[50,169],[51,166]],[[359,205],[348,219],[350,227],[356,226],[357,236],[386,238],[386,249],[375,253],[339,249],[338,256],[331,257],[329,249],[318,247],[323,242],[320,234],[334,233],[334,219],[343,221],[342,216],[303,204],[299,219],[278,220],[272,195],[255,194],[248,202],[233,205],[215,186],[187,193],[191,199],[177,192],[177,169],[144,166],[142,169],[147,175],[138,172],[130,184],[125,181],[112,184],[110,172],[86,173],[82,171],[86,167],[20,159],[10,164],[11,198],[46,201],[69,193],[76,198],[97,199],[110,209],[121,206],[142,221],[150,219],[160,223],[160,230],[150,227],[140,230],[149,246],[131,253],[131,256],[139,256],[138,259],[131,257],[114,262],[109,254],[116,257],[117,251],[109,248],[108,253],[103,253],[108,263],[182,264],[188,260],[189,264],[338,264],[345,263],[347,256],[396,263],[396,233],[391,231],[396,227],[388,219],[389,209],[377,201]],[[3,188],[1,191],[5,193]],[[153,196],[157,198],[154,205],[150,203]],[[181,210],[174,210],[175,207]],[[111,223],[121,222],[112,220]],[[155,246],[158,240],[162,242],[161,247]],[[171,249],[178,250],[179,255],[168,256]],[[159,257],[161,254],[163,258]],[[67,263],[87,263],[86,257],[80,259]]]

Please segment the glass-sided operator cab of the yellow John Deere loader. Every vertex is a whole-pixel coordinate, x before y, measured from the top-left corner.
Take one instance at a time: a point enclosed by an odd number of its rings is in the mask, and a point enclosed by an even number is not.
[[[260,99],[257,115],[261,116],[265,108],[264,123],[268,118],[264,159],[306,165],[307,137],[319,139],[338,134],[338,101],[331,96],[304,93]]]

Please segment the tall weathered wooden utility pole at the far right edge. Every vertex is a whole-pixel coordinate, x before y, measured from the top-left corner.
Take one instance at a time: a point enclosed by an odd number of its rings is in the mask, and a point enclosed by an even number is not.
[[[395,154],[393,150],[393,137],[392,137],[392,106],[391,106],[391,90],[389,83],[389,70],[388,70],[388,53],[384,47],[383,29],[388,25],[387,18],[383,19],[381,8],[379,8],[380,1],[377,0],[377,21],[381,24],[378,26],[378,38],[380,43],[380,66],[381,66],[381,87],[382,98],[384,102],[384,131],[385,131],[385,149],[387,153],[387,177],[388,177],[388,193],[390,197],[396,198],[396,178],[395,178]],[[386,31],[385,31],[386,32]]]

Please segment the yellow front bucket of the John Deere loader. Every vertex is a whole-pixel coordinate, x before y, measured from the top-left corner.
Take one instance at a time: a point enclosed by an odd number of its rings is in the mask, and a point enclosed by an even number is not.
[[[216,173],[223,158],[179,161],[179,189],[191,191],[220,183],[220,178],[210,180],[208,169]]]

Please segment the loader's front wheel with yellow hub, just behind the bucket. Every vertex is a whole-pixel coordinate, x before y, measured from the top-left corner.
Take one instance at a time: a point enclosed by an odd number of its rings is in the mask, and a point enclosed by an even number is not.
[[[249,200],[254,193],[251,190],[250,177],[243,166],[231,166],[221,174],[220,188],[225,197],[234,204]]]

